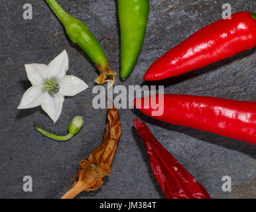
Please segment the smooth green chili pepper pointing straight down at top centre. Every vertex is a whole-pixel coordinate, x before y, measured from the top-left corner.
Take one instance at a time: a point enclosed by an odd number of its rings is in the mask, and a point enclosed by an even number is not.
[[[132,72],[143,46],[149,0],[117,0],[121,33],[121,79]]]

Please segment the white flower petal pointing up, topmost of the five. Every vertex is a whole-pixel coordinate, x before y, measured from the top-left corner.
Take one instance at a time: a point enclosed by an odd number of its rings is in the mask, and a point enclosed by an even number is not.
[[[66,76],[66,72],[68,71],[68,54],[66,50],[56,56],[56,58],[54,58],[50,64],[48,64],[48,68],[50,79],[59,81],[60,79],[64,78],[64,76]]]

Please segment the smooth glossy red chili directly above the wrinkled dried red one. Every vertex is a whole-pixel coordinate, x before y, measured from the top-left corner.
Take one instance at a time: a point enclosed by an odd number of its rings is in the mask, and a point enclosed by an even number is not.
[[[159,95],[155,97],[159,99]],[[171,123],[213,132],[256,145],[256,101],[235,101],[196,95],[164,94],[160,116],[153,116],[151,97],[135,99],[141,112]]]

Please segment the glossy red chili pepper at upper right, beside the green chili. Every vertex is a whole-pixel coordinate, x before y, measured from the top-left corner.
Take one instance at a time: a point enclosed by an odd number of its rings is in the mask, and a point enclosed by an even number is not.
[[[238,12],[231,19],[201,28],[156,60],[143,79],[178,76],[256,46],[256,14]]]

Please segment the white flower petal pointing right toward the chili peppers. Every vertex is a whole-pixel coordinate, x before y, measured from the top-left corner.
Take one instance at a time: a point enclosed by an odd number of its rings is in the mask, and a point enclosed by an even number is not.
[[[62,95],[74,96],[88,88],[88,85],[76,76],[66,76],[59,82]]]

